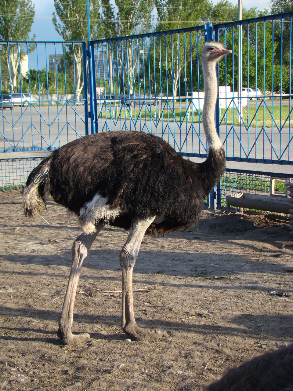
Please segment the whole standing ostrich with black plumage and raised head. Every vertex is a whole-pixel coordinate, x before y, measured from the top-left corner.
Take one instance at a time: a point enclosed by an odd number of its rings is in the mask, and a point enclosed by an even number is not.
[[[23,192],[25,215],[44,212],[44,196],[78,216],[82,233],[72,247],[72,266],[57,335],[65,344],[90,336],[74,335],[73,305],[82,262],[105,224],[129,230],[120,252],[121,328],[135,339],[167,336],[136,325],[132,270],[145,233],[162,234],[197,223],[204,199],[225,170],[225,152],[214,126],[218,87],[216,63],[230,53],[209,42],[202,51],[204,108],[202,122],[209,145],[207,160],[184,160],[162,138],[135,131],[88,135],[52,152],[30,173]]]

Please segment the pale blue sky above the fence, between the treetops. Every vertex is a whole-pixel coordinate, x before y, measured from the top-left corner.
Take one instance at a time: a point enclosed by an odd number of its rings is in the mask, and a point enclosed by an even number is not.
[[[55,11],[53,0],[36,0],[35,4],[35,18],[32,24],[32,32],[30,36],[36,34],[36,41],[62,41],[63,39],[52,24],[52,13]],[[230,0],[232,4],[238,4],[238,0]],[[217,1],[214,1],[216,4]],[[255,7],[255,0],[243,0],[243,7],[249,9]],[[269,9],[269,1],[258,0],[258,9]]]

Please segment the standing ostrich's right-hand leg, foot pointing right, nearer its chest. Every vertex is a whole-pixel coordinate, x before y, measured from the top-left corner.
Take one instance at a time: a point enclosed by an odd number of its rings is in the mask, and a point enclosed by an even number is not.
[[[126,334],[130,334],[138,340],[166,337],[167,333],[161,330],[147,330],[136,325],[134,319],[132,297],[132,271],[138,256],[139,247],[143,235],[155,217],[138,219],[133,221],[127,240],[120,252],[120,265],[122,269],[122,318],[121,328]]]

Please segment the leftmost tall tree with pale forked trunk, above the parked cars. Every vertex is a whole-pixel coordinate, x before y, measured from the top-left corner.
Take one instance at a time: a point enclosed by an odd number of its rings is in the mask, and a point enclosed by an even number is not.
[[[0,39],[2,41],[28,41],[29,32],[34,21],[35,8],[31,0],[0,0]],[[34,39],[34,37],[33,37]],[[34,51],[34,45],[2,44],[1,58],[9,73],[9,82],[14,91],[17,87],[17,76],[20,80],[20,65],[25,55]]]

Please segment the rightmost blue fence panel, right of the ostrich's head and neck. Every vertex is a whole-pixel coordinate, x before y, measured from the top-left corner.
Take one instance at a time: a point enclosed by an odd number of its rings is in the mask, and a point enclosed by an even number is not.
[[[292,16],[263,16],[214,26],[214,37],[232,48],[232,65],[220,64],[216,123],[227,160],[293,164]],[[237,27],[243,28],[243,87],[237,89]]]

